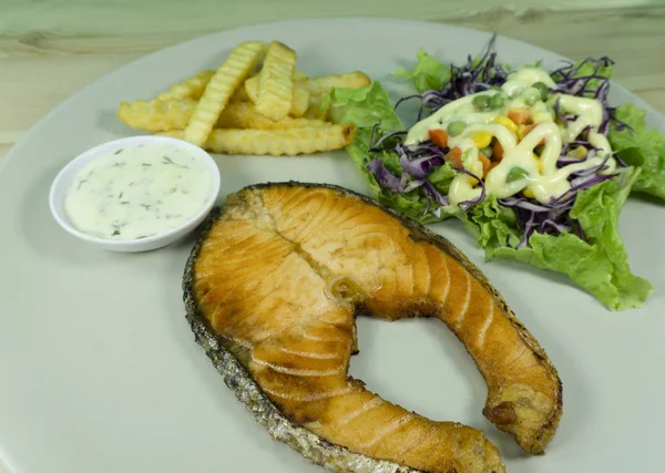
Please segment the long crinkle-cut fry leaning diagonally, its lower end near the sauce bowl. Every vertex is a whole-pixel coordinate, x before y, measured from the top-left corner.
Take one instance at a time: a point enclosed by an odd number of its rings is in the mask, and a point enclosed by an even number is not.
[[[247,78],[265,52],[263,42],[238,44],[217,69],[194,109],[184,140],[201,146],[207,140],[219,114],[236,89]]]

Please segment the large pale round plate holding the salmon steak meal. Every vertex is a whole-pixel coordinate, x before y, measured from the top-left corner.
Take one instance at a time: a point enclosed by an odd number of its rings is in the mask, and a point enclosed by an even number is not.
[[[227,31],[151,54],[85,88],[45,116],[0,173],[0,457],[14,473],[317,472],[274,442],[235,400],[191,333],[181,277],[191,240],[146,254],[84,245],[49,214],[49,185],[83,150],[136,134],[115,119],[205,68],[243,40],[279,39],[310,74],[388,75],[420,47],[463,61],[489,39],[461,28],[392,20],[314,20]],[[502,61],[560,58],[500,38]],[[580,55],[583,55],[581,45]],[[647,107],[618,85],[615,102]],[[651,123],[665,132],[653,110]],[[264,181],[328,182],[365,191],[344,152],[313,157],[218,156],[221,200]],[[665,209],[631,199],[621,220],[632,267],[655,292],[642,310],[612,313],[563,278],[484,264],[451,223],[434,228],[480,264],[555,363],[564,413],[545,456],[525,457],[481,414],[485,388],[442,325],[360,319],[351,373],[385,398],[437,420],[483,429],[511,473],[655,472],[662,467],[665,389]]]

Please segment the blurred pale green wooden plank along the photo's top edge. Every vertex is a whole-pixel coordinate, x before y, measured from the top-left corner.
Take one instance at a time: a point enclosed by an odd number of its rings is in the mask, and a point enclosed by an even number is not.
[[[30,48],[31,43],[59,41],[62,35],[72,33],[85,33],[94,43],[99,37],[171,38],[172,33],[185,31],[201,35],[245,24],[304,18],[381,16],[457,21],[478,13],[529,18],[548,12],[601,11],[649,4],[653,4],[649,0],[409,0],[407,4],[403,0],[252,0],[233,4],[218,0],[3,0],[0,33],[20,39]],[[85,49],[83,44],[80,47]],[[113,44],[108,47],[113,48]]]

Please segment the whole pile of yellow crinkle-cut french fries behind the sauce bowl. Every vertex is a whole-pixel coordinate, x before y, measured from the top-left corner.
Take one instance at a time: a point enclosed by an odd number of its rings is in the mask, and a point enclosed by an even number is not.
[[[122,102],[117,119],[215,153],[282,156],[349,145],[356,127],[330,123],[334,111],[321,103],[331,88],[371,80],[362,72],[311,79],[296,62],[278,41],[243,42],[215,71],[200,71],[153,100]]]

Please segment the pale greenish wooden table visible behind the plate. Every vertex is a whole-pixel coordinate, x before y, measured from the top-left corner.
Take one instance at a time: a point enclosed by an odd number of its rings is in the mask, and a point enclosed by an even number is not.
[[[0,0],[0,157],[81,86],[152,51],[274,20],[390,17],[456,23],[565,56],[608,55],[665,112],[664,0]],[[528,7],[526,7],[528,6]]]

